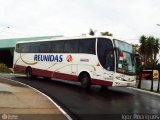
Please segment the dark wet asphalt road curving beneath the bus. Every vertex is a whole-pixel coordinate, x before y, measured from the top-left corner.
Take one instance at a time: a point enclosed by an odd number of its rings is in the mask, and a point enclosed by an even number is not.
[[[2,75],[0,75],[2,76]],[[3,75],[4,77],[4,75]],[[73,119],[125,120],[156,117],[160,119],[160,96],[124,87],[101,89],[92,86],[84,90],[78,83],[45,80],[43,78],[5,75],[5,77],[28,84],[51,97]]]

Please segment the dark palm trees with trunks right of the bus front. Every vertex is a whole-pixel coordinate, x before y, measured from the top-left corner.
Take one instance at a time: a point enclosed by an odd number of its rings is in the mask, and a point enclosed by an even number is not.
[[[160,86],[160,63],[158,60],[160,59],[159,50],[160,50],[160,39],[155,38],[153,36],[145,36],[142,35],[140,37],[138,44],[133,44],[134,51],[141,56],[141,61],[137,64],[137,75],[139,75],[139,84],[138,88],[141,88],[141,79],[142,79],[142,71],[143,70],[158,70],[159,71],[159,80],[157,92],[159,92]],[[151,91],[153,91],[153,77],[151,78]]]

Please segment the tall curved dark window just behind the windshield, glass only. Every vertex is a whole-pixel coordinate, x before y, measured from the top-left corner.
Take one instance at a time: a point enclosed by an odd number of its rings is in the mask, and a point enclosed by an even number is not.
[[[99,38],[97,44],[98,59],[101,65],[109,71],[114,71],[115,60],[114,50],[111,40]]]

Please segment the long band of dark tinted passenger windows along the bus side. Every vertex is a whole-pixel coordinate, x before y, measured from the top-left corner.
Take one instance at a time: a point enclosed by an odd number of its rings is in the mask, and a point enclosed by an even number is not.
[[[95,54],[96,39],[77,39],[66,41],[47,41],[35,43],[20,43],[16,51],[22,53],[88,53]]]

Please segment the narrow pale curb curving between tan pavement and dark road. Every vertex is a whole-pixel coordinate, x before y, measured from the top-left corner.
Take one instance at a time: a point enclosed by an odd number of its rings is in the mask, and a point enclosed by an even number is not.
[[[22,82],[19,82],[19,81],[14,81],[12,79],[9,79],[9,78],[6,78],[6,77],[3,77],[3,76],[0,76],[1,78],[3,79],[6,79],[6,80],[9,80],[9,81],[12,81],[12,82],[16,82],[16,83],[19,83],[19,84],[22,84],[24,86],[27,86],[35,91],[37,91],[38,93],[40,93],[41,95],[43,95],[44,97],[46,97],[50,102],[52,102],[62,113],[63,115],[68,119],[68,120],[72,120],[72,118],[56,103],[54,102],[49,96],[47,96],[46,94],[42,93],[41,91],[37,90],[36,88],[34,87],[31,87],[30,85],[27,85],[27,84],[24,84]]]

